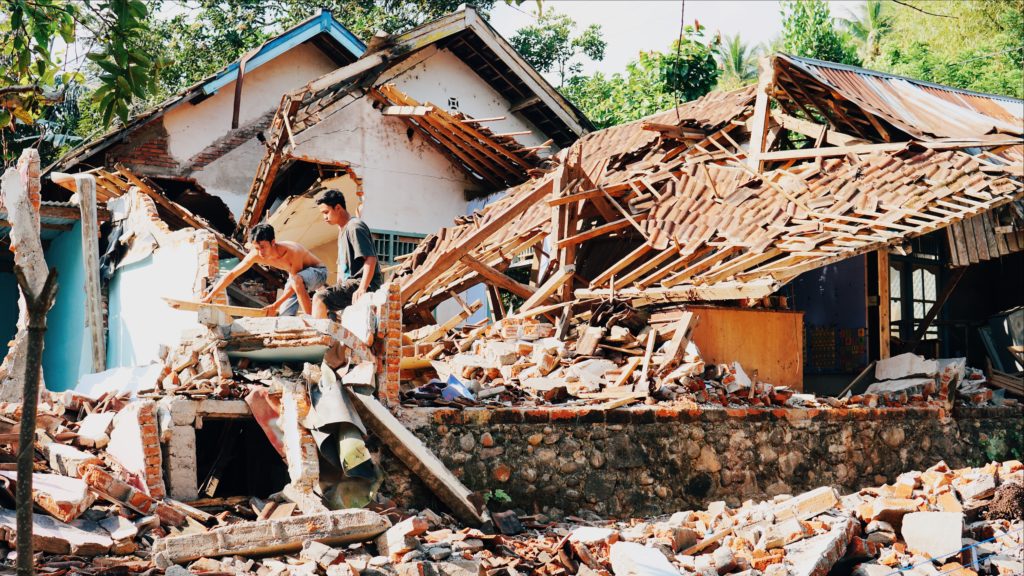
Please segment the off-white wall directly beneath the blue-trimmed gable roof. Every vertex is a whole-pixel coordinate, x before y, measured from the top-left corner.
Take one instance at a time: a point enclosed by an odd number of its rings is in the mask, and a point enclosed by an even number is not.
[[[337,66],[315,46],[304,43],[245,75],[239,124],[245,125],[281,105],[281,96]],[[231,129],[234,82],[198,105],[183,102],[164,115],[168,151],[185,161]],[[250,172],[251,175],[251,172]]]

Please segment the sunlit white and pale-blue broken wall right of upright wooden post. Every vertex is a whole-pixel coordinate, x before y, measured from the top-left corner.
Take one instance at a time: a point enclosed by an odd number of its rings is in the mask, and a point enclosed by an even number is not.
[[[173,346],[182,331],[198,326],[196,313],[176,311],[163,298],[195,299],[199,254],[193,242],[165,242],[118,271],[109,298],[108,368],[155,362],[160,344]]]

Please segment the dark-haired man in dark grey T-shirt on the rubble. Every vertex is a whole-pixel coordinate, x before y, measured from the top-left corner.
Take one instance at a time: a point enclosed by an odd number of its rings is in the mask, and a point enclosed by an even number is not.
[[[370,228],[348,213],[341,192],[325,192],[316,199],[316,206],[325,222],[338,227],[337,284],[313,294],[313,318],[327,318],[328,312],[344,310],[362,294],[380,288],[383,280]]]

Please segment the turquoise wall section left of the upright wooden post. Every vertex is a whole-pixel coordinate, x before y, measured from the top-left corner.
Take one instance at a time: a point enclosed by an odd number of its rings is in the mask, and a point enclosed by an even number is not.
[[[85,329],[85,266],[82,263],[82,223],[50,242],[46,264],[57,271],[57,298],[46,317],[43,378],[59,392],[75,387],[82,374],[92,371]]]

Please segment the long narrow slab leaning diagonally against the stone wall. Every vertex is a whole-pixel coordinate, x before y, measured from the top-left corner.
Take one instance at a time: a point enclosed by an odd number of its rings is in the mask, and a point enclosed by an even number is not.
[[[444,502],[463,522],[479,526],[487,519],[486,509],[477,507],[471,500],[468,488],[434,456],[420,439],[409,430],[377,399],[356,394],[346,388],[354,400],[359,417],[370,430],[381,439],[416,476]]]

